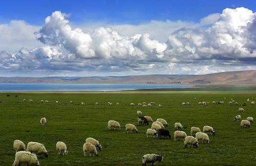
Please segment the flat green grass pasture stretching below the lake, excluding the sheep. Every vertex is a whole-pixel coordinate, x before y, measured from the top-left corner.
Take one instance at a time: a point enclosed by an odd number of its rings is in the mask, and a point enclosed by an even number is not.
[[[6,95],[10,94],[10,97]],[[15,98],[15,95],[18,95]],[[209,101],[209,106],[199,106]],[[224,99],[226,97],[227,99]],[[253,99],[251,99],[253,97]],[[123,91],[123,92],[47,92],[47,93],[0,93],[0,165],[12,165],[15,159],[13,141],[37,141],[45,145],[48,158],[40,158],[41,165],[141,165],[142,156],[149,153],[162,154],[163,162],[157,165],[256,165],[256,124],[241,129],[234,116],[241,114],[256,117],[256,105],[241,106],[247,98],[255,101],[255,91]],[[26,102],[23,102],[26,99]],[[32,99],[34,103],[29,103]],[[239,106],[228,106],[234,99]],[[48,100],[49,104],[41,104]],[[55,101],[59,104],[55,104]],[[74,105],[69,102],[73,101]],[[221,106],[212,101],[224,101]],[[85,106],[78,105],[85,102]],[[95,105],[98,102],[99,105]],[[109,106],[108,102],[114,105]],[[119,106],[115,103],[119,102]],[[130,103],[155,102],[162,107],[142,108]],[[190,102],[191,106],[181,106]],[[243,107],[245,113],[238,113]],[[137,126],[137,110],[150,115],[153,120],[164,118],[169,126],[171,139],[146,138],[150,126]],[[40,118],[47,118],[42,127]],[[122,129],[109,131],[109,120],[116,120]],[[212,126],[216,135],[209,135],[209,144],[199,144],[197,149],[184,148],[183,141],[174,141],[174,123],[180,122],[187,135],[190,127]],[[127,123],[136,125],[139,133],[125,133]],[[102,145],[96,157],[83,156],[82,146],[87,137],[94,137]],[[57,155],[56,143],[63,141],[68,155]]]

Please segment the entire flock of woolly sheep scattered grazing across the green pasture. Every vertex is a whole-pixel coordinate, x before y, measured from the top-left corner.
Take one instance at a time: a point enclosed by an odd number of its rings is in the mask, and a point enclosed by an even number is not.
[[[196,98],[195,98],[196,99]],[[224,98],[225,99],[225,98]],[[24,102],[26,101],[26,99],[23,100]],[[29,100],[29,102],[33,102],[33,100]],[[48,100],[44,101],[41,100],[41,103],[49,103]],[[247,102],[251,102],[252,105],[254,105],[254,102],[250,101],[249,99],[247,99]],[[55,102],[56,104],[58,104],[58,101]],[[223,104],[224,102],[220,101],[214,101],[212,102],[213,105],[217,105],[217,104]],[[235,105],[238,105],[237,102],[235,102],[234,100],[231,99],[231,103],[235,103]],[[70,101],[70,104],[73,104],[72,101]],[[98,103],[95,103],[96,105],[98,105]],[[113,105],[113,103],[108,102],[108,104],[111,106]],[[209,104],[209,102],[199,102],[198,104],[200,105],[205,105],[207,106]],[[84,102],[81,102],[81,105],[84,105]],[[116,105],[118,106],[119,103],[116,103]],[[130,104],[131,106],[135,106],[134,103]],[[189,102],[183,102],[182,105],[191,105]],[[147,108],[148,106],[156,106],[155,102],[151,102],[146,104],[145,102],[138,103],[138,106],[142,106],[144,108]],[[161,104],[158,104],[159,107],[161,107]],[[239,108],[239,112],[243,113],[245,112],[245,110],[243,108]],[[158,138],[171,138],[172,136],[170,135],[170,132],[165,128],[168,127],[168,123],[166,120],[164,120],[163,118],[157,118],[157,120],[154,122],[151,116],[142,116],[142,112],[141,111],[137,111],[137,115],[138,115],[138,124],[139,125],[149,125],[150,123],[152,123],[151,128],[148,128],[145,133],[146,133],[146,137],[151,136],[151,137],[158,137]],[[236,115],[234,117],[234,122],[237,121],[241,121],[241,128],[242,127],[250,127],[251,123],[253,123],[253,117],[247,117],[246,120],[242,120],[241,115]],[[42,126],[46,126],[47,124],[47,120],[46,117],[42,117],[40,119],[40,123]],[[117,121],[109,121],[108,122],[108,129],[119,129],[121,130],[121,125],[119,124],[119,122]],[[184,131],[182,131],[183,126],[181,123],[175,123],[174,124],[174,128],[175,128],[175,132],[174,132],[174,140],[184,140],[184,147],[187,148],[188,146],[191,147],[193,146],[194,148],[198,148],[199,146],[199,142],[202,141],[205,143],[209,143],[209,136],[210,135],[215,135],[216,132],[214,131],[214,129],[210,126],[204,126],[203,127],[203,131],[201,132],[200,128],[198,127],[191,127],[190,129],[190,135],[187,135]],[[125,133],[128,132],[136,132],[138,133],[138,129],[136,128],[136,126],[134,124],[126,124],[125,125]],[[193,136],[195,135],[195,137]],[[13,148],[16,151],[15,154],[15,160],[13,165],[20,165],[21,163],[27,163],[28,165],[40,165],[39,161],[37,159],[36,155],[42,155],[44,154],[45,157],[48,157],[48,152],[45,148],[44,145],[40,144],[40,143],[36,143],[36,142],[29,142],[27,145],[27,149],[25,144],[21,141],[21,140],[15,140],[13,143]],[[98,152],[97,149],[99,150],[102,149],[101,145],[99,144],[99,141],[94,139],[94,138],[87,138],[86,139],[86,143],[83,144],[83,154],[84,156],[87,155],[87,153],[96,155],[98,156]],[[67,155],[68,151],[67,151],[67,146],[65,143],[63,143],[62,141],[58,141],[56,143],[56,150],[57,153],[60,154],[62,153],[63,155]],[[142,165],[146,165],[146,163],[152,163],[152,165],[156,164],[156,161],[161,162],[163,160],[163,156],[161,155],[157,155],[157,154],[146,154],[144,156],[142,156]]]

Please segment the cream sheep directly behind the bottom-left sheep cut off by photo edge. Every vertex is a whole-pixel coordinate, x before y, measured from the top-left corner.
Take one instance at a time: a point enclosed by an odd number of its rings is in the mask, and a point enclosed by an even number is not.
[[[27,151],[31,153],[35,153],[36,155],[44,154],[45,157],[48,157],[48,152],[44,145],[36,142],[29,142],[27,145]],[[41,157],[40,157],[41,158]]]

